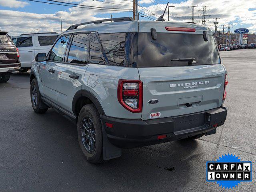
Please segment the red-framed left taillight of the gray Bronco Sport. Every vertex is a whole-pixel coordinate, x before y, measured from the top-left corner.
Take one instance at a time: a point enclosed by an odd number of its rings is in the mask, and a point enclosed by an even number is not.
[[[120,104],[130,112],[142,112],[142,81],[120,79],[118,81],[117,98]]]

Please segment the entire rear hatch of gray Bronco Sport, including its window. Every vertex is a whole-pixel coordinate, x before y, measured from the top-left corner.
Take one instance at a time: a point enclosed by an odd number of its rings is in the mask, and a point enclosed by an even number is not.
[[[159,23],[156,40],[152,38],[150,27],[139,25],[137,67],[143,82],[142,119],[220,107],[226,70],[220,64],[212,33],[205,26],[194,24],[185,27],[196,32],[167,31],[165,27],[173,25]],[[208,38],[203,36],[203,31]],[[185,61],[176,61],[184,58]],[[152,116],[152,113],[156,114]]]

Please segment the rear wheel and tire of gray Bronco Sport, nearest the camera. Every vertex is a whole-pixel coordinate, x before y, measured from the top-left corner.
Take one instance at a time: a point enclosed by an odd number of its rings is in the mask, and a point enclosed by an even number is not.
[[[77,123],[78,143],[88,162],[103,162],[102,126],[94,104],[82,107]]]

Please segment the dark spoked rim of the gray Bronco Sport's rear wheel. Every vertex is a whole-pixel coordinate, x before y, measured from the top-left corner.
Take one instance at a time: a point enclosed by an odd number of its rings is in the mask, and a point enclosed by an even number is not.
[[[94,124],[89,116],[82,120],[81,126],[82,142],[89,153],[94,152],[96,146],[96,133]]]

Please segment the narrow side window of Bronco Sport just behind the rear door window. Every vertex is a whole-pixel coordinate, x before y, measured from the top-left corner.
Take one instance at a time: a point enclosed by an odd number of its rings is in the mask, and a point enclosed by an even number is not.
[[[102,54],[101,44],[98,41],[96,32],[92,32],[90,35],[90,62],[96,64],[106,64]]]

